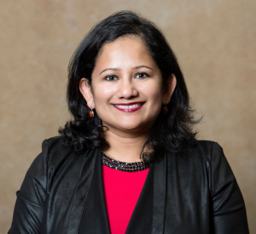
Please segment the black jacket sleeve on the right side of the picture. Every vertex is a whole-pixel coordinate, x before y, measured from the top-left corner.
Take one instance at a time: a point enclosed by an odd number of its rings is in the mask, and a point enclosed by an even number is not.
[[[247,234],[247,213],[236,178],[218,143],[212,146],[212,233]]]

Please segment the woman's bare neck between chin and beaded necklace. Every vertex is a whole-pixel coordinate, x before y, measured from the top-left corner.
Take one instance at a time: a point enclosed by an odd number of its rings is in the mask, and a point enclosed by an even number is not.
[[[135,163],[141,162],[140,157],[143,144],[148,134],[119,134],[108,128],[105,132],[105,139],[108,141],[108,148],[102,151],[119,162]],[[145,149],[146,151],[146,149]]]

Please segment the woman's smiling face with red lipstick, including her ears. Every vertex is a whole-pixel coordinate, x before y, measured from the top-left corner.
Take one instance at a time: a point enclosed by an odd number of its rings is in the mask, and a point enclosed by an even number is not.
[[[173,81],[176,83],[174,75],[169,80],[169,86]],[[134,36],[119,37],[103,45],[91,85],[93,94],[86,79],[80,81],[80,91],[88,106],[96,109],[103,125],[126,133],[147,132],[173,92],[167,90],[163,94],[160,69],[143,41]]]

